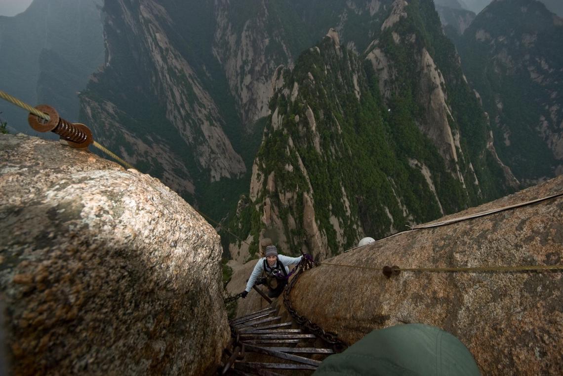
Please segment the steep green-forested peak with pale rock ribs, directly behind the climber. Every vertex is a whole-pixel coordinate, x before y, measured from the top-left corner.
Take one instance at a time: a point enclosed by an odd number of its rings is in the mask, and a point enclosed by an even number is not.
[[[323,259],[517,187],[432,3],[386,15],[360,56],[332,29],[276,72],[234,259],[265,237]]]

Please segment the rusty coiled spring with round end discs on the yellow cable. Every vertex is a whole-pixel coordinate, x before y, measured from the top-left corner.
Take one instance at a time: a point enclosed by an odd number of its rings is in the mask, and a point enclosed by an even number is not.
[[[53,132],[73,148],[87,148],[94,138],[90,128],[81,123],[70,123],[59,116],[55,108],[47,105],[35,107],[38,111],[49,116],[49,120],[29,114],[28,123],[37,132]]]

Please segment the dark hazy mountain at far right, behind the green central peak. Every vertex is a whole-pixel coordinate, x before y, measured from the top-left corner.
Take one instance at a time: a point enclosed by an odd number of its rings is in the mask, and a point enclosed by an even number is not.
[[[563,19],[531,0],[494,1],[454,38],[501,160],[524,185],[563,174]]]

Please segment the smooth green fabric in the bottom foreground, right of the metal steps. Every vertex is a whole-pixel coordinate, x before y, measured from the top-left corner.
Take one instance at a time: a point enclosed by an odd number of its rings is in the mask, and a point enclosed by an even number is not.
[[[342,354],[327,357],[323,375],[480,375],[467,347],[448,332],[424,324],[373,330]]]

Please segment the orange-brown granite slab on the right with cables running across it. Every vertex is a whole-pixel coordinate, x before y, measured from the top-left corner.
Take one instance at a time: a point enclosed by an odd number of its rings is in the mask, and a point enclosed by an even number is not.
[[[561,193],[563,176],[455,215]],[[563,198],[396,235],[326,260],[293,288],[294,308],[353,343],[373,329],[435,325],[458,337],[483,374],[561,371],[563,278],[550,273],[412,273],[401,268],[560,265]]]

